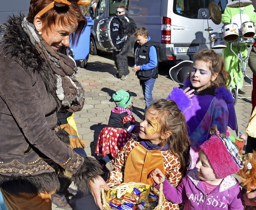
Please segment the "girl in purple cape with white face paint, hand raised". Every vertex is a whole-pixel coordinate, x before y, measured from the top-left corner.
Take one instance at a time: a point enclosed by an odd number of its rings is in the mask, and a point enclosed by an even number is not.
[[[174,87],[167,99],[180,99],[190,108],[184,112],[190,139],[191,168],[198,158],[199,146],[210,137],[210,128],[218,126],[226,135],[227,126],[238,133],[234,97],[227,89],[230,75],[222,57],[214,50],[201,50],[183,87]]]

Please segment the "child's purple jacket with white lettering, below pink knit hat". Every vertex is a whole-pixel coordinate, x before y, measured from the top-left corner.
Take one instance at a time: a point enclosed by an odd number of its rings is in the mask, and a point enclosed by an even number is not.
[[[224,178],[210,194],[206,194],[196,168],[188,171],[177,188],[167,180],[163,184],[165,198],[173,203],[185,202],[184,210],[244,209],[239,182],[233,176]]]

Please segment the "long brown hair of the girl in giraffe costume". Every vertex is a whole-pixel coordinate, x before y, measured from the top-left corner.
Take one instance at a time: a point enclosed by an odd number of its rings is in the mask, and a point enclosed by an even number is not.
[[[160,146],[168,145],[170,153],[178,157],[180,161],[182,177],[186,176],[190,165],[190,141],[183,113],[173,100],[166,99],[160,99],[152,103],[147,111],[154,111],[154,115],[159,121],[160,129],[158,133],[162,140]],[[172,135],[164,139],[166,132],[172,132]]]

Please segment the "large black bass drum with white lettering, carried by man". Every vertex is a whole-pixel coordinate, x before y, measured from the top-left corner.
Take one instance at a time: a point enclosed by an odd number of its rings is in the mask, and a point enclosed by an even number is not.
[[[119,18],[111,17],[100,20],[97,25],[97,38],[105,51],[121,51],[125,43],[125,34]]]

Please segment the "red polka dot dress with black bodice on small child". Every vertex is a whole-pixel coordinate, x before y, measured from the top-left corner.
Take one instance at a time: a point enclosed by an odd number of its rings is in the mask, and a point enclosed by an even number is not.
[[[135,119],[129,109],[120,107],[112,109],[108,126],[104,127],[98,136],[95,153],[102,154],[103,157],[108,154],[115,157],[126,142],[134,137],[132,133],[126,131],[134,124]]]

